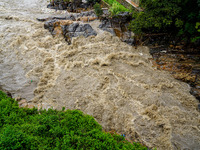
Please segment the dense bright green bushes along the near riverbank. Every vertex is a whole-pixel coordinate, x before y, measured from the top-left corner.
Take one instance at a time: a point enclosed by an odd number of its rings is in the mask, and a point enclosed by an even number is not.
[[[89,115],[78,110],[19,108],[17,102],[0,91],[0,149],[66,150],[114,149],[146,150],[123,136],[102,131]]]

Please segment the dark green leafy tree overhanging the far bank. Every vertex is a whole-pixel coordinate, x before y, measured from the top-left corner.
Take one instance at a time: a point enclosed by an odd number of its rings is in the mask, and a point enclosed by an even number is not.
[[[142,12],[134,13],[130,28],[136,34],[173,33],[186,40],[198,39],[200,0],[140,0]]]

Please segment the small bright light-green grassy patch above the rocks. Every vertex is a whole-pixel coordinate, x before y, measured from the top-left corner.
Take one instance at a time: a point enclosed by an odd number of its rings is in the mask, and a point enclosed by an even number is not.
[[[129,12],[130,10],[121,5],[118,1],[116,0],[103,0],[104,2],[108,3],[111,7],[109,9],[111,15],[117,15],[120,12]]]

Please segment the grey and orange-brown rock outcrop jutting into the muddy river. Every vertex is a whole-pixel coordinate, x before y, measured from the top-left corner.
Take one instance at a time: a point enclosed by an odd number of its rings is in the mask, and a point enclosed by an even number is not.
[[[44,22],[44,28],[48,29],[53,36],[63,35],[68,44],[71,43],[72,37],[96,36],[96,31],[89,24],[85,24],[96,19],[94,11],[37,18],[38,21]]]

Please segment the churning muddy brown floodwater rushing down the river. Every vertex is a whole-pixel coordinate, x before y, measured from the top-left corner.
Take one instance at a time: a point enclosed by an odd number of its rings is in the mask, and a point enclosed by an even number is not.
[[[200,149],[198,101],[186,83],[152,67],[148,48],[106,32],[67,45],[36,21],[53,13],[46,3],[25,2],[0,3],[2,89],[44,108],[80,109],[149,147]]]

